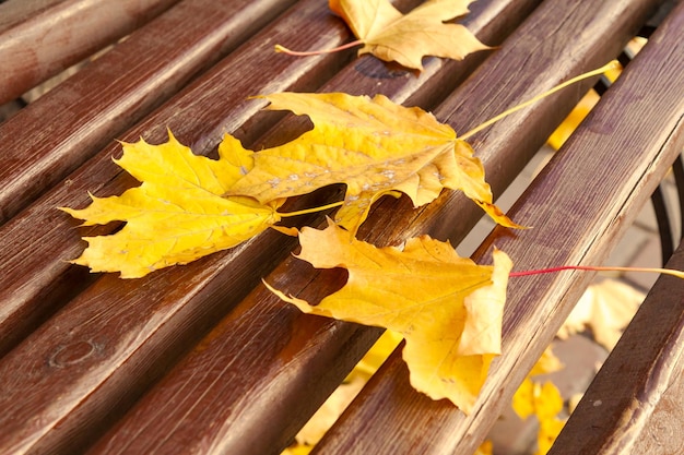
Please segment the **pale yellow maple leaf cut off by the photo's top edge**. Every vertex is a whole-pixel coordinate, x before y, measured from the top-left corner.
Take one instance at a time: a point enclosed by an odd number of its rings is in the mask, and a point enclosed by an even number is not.
[[[491,49],[463,25],[444,23],[467,14],[471,1],[431,0],[409,14],[399,12],[388,0],[330,0],[329,5],[364,44],[359,55],[373,53],[423,70],[424,56],[461,60],[471,52]]]

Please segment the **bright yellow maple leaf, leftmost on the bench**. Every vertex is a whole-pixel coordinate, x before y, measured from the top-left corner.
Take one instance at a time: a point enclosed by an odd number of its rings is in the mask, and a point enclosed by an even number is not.
[[[252,166],[252,152],[225,135],[220,159],[192,154],[169,131],[168,142],[123,143],[115,160],[142,184],[120,196],[95,197],[83,209],[62,207],[83,226],[126,221],[110,236],[85,237],[89,247],[73,260],[93,272],[138,278],[174,264],[235,247],[280,219],[282,201],[260,204],[223,195]]]

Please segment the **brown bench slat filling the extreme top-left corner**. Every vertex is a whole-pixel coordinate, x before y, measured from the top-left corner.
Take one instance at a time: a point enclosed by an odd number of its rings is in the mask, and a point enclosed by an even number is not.
[[[0,4],[12,21],[0,28],[0,104],[140,27],[178,0],[71,0]],[[20,8],[28,13],[16,13]],[[2,24],[0,24],[2,25]],[[4,25],[4,26],[7,26]]]

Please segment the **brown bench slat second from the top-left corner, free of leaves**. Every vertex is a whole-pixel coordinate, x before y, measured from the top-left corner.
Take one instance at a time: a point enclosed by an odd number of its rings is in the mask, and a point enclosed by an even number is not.
[[[0,143],[12,143],[0,157],[0,223],[292,3],[180,2],[0,124]]]

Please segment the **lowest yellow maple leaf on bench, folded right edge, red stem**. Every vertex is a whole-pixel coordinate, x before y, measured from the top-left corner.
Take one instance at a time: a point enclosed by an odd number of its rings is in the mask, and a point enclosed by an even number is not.
[[[493,266],[477,265],[427,236],[406,241],[403,250],[376,248],[332,223],[325,230],[302,229],[299,241],[297,258],[318,268],[347,268],[347,283],[316,307],[269,289],[305,313],[400,333],[413,387],[472,409],[500,354],[512,266],[504,252],[494,252]]]

